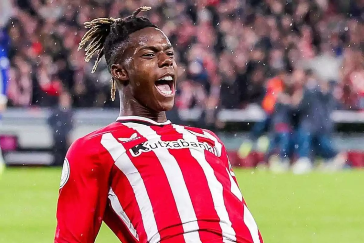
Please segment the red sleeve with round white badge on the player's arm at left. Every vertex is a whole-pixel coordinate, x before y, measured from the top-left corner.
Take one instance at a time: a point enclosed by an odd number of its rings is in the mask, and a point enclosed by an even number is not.
[[[107,204],[110,169],[98,149],[77,140],[68,150],[57,204],[55,243],[94,243]],[[104,161],[105,162],[105,161]]]

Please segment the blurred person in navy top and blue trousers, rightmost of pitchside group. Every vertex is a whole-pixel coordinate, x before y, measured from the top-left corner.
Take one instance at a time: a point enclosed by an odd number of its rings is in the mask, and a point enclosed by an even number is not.
[[[297,106],[299,114],[297,161],[292,165],[295,174],[310,172],[318,155],[326,160],[322,169],[339,170],[346,162],[345,153],[339,153],[332,144],[334,124],[331,113],[337,108],[329,82],[309,73],[305,90]]]

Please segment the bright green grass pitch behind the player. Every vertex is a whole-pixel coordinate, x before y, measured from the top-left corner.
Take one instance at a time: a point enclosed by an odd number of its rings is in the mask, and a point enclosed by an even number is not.
[[[266,243],[363,243],[364,171],[306,176],[236,169]],[[60,169],[12,168],[0,178],[0,243],[49,243]],[[102,227],[98,243],[118,240]]]

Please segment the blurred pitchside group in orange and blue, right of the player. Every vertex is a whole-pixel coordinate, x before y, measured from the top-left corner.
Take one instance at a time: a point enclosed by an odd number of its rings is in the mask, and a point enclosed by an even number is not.
[[[297,174],[309,172],[317,157],[325,160],[321,166],[324,170],[343,169],[347,154],[337,151],[332,142],[331,114],[343,109],[335,89],[334,81],[319,78],[312,70],[295,69],[290,75],[281,72],[269,79],[261,103],[266,117],[254,124],[250,139],[238,151],[239,157],[246,159],[256,145],[254,150],[266,154],[262,161],[274,172],[290,167]],[[268,146],[259,148],[266,132]]]

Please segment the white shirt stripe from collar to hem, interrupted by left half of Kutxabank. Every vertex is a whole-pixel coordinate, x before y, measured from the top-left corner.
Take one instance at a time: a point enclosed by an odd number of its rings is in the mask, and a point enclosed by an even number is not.
[[[135,129],[141,136],[147,139],[151,137],[154,138],[153,140],[156,142],[162,141],[161,136],[149,126],[131,122],[124,123],[124,125]],[[184,239],[186,242],[201,242],[195,210],[178,162],[173,155],[169,153],[167,148],[158,147],[153,151],[158,157],[171,187],[179,217],[181,218],[183,231],[185,232],[183,235]]]

